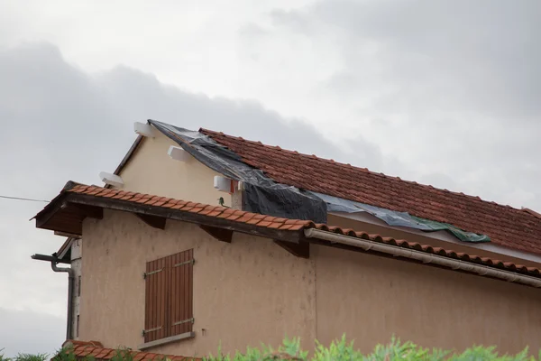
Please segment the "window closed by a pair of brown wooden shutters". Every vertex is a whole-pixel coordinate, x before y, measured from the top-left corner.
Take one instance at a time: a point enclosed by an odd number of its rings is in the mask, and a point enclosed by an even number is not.
[[[193,249],[147,262],[144,342],[191,333]]]

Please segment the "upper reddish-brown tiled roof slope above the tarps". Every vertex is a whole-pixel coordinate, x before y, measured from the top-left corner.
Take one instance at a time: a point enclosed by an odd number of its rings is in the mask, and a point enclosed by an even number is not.
[[[272,180],[302,190],[351,199],[491,237],[494,244],[541,254],[541,217],[463,193],[401,180],[351,164],[281,149],[207,129],[210,136]]]

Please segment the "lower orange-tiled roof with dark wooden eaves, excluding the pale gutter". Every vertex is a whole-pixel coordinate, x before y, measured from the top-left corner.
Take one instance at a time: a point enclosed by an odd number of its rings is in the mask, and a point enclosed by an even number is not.
[[[355,231],[353,229],[315,224],[309,220],[276,218],[186,200],[87,186],[72,181],[69,181],[60,192],[60,195],[51,200],[35,216],[36,227],[69,231],[69,233],[81,235],[83,219],[87,217],[103,217],[98,211],[103,210],[103,208],[132,212],[150,226],[160,227],[161,225],[160,228],[162,229],[165,224],[160,224],[158,219],[170,218],[196,223],[220,240],[224,240],[221,238],[223,237],[223,233],[216,232],[218,229],[265,236],[274,240],[285,241],[289,244],[307,244],[312,239],[307,239],[304,236],[304,231],[306,229],[318,229],[541,278],[540,270],[535,267],[494,260],[488,257],[468,255],[431,245],[420,245],[406,240],[397,240],[392,237],[369,235],[366,232]],[[231,238],[229,237],[230,240]],[[227,240],[225,239],[225,241]],[[325,244],[331,245],[330,243]],[[371,253],[370,250],[365,252]]]

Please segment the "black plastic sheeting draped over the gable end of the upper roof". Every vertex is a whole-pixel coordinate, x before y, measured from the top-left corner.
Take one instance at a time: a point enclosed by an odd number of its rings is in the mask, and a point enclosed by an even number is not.
[[[199,132],[149,120],[161,133],[179,143],[186,152],[207,167],[232,180],[244,183],[243,209],[274,217],[307,219],[326,223],[326,202],[310,192],[276,183],[262,171]]]

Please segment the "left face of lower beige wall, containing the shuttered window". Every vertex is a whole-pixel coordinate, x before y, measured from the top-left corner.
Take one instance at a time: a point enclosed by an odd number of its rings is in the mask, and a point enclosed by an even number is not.
[[[219,242],[196,225],[168,221],[148,227],[129,213],[105,211],[84,223],[85,256],[80,339],[105,347],[142,344],[145,263],[194,248],[196,338],[152,352],[183,356],[277,346],[284,335],[316,338],[314,261],[290,255],[271,240],[234,235]],[[203,335],[202,329],[206,329]]]

